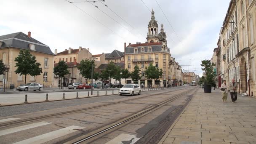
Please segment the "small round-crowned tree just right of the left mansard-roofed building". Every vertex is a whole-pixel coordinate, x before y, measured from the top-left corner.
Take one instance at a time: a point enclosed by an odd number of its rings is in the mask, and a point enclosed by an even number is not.
[[[62,78],[69,74],[69,70],[67,70],[68,66],[65,61],[59,61],[58,65],[53,68],[53,73],[61,78],[61,89],[62,89]]]

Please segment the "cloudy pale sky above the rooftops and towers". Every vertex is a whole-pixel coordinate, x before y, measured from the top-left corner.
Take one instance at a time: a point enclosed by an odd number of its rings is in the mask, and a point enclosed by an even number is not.
[[[0,0],[0,35],[31,32],[54,53],[89,48],[92,54],[144,43],[152,8],[163,23],[171,55],[184,72],[202,75],[211,59],[230,0]],[[159,5],[158,5],[158,4]],[[107,6],[105,6],[107,5]],[[162,10],[163,11],[162,11]],[[118,15],[116,15],[116,14]]]

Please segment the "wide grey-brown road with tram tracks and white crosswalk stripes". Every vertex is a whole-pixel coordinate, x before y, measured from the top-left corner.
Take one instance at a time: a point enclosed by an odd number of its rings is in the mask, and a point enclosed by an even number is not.
[[[157,141],[155,134],[164,134],[159,128],[169,128],[196,90],[184,86],[147,91],[140,96],[113,95],[0,107],[5,112],[0,118],[1,143],[73,143],[124,120],[127,121],[122,125],[82,143]]]

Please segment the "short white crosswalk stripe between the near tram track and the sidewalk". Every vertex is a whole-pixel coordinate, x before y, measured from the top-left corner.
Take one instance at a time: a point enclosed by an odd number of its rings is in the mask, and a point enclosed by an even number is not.
[[[112,139],[111,141],[108,141],[105,144],[123,144],[123,141],[130,141],[129,144],[134,144],[139,139],[140,138],[136,138],[136,136],[134,135],[122,133],[119,136],[115,137],[115,139]]]

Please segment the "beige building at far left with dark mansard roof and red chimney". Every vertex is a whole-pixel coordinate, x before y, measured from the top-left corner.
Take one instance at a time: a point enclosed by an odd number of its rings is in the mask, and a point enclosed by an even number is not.
[[[49,46],[35,40],[31,37],[31,32],[28,35],[23,32],[17,32],[8,35],[0,36],[0,59],[9,68],[6,72],[5,87],[9,88],[11,84],[15,87],[25,83],[25,76],[16,74],[14,71],[15,58],[21,50],[29,50],[36,57],[37,62],[41,64],[43,73],[37,77],[27,75],[26,83],[40,83],[44,87],[53,86],[53,58],[54,53]],[[3,85],[3,75],[0,75],[0,85]]]

